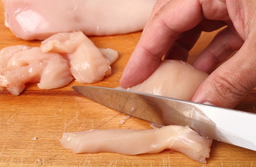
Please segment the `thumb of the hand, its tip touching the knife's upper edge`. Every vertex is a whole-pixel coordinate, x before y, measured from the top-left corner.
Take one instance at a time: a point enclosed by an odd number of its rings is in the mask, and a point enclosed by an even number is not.
[[[244,43],[240,50],[219,66],[197,89],[192,101],[234,108],[255,86],[255,49]]]

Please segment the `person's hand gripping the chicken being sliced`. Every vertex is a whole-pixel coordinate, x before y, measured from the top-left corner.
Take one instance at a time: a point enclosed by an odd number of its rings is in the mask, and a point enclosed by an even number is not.
[[[224,26],[192,64],[210,74],[192,101],[235,107],[256,86],[253,0],[158,0],[120,85],[128,88],[143,82],[155,71],[163,55],[165,59],[186,61],[201,31]],[[236,54],[216,69],[235,50]]]

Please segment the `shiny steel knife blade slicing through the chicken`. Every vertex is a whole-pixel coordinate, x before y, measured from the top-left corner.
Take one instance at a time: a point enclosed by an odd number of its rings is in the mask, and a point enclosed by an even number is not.
[[[127,115],[160,125],[187,125],[201,136],[256,151],[255,113],[126,90],[71,88]]]

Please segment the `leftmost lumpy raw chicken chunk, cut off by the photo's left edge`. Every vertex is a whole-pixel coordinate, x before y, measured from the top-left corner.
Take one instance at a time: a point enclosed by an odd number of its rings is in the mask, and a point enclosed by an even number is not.
[[[19,95],[27,82],[39,82],[40,89],[54,89],[73,80],[68,61],[57,53],[17,45],[3,48],[0,54],[1,90],[5,87],[14,95]]]

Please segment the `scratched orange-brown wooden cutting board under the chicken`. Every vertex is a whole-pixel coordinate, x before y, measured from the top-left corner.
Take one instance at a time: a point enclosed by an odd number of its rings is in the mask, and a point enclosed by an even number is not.
[[[202,33],[188,59],[192,63],[217,31]],[[40,41],[23,41],[4,26],[0,6],[0,48],[10,45],[40,46]],[[76,85],[115,88],[123,69],[139,41],[141,32],[103,37],[90,37],[100,48],[112,48],[120,58],[112,65],[112,74],[94,84],[69,85],[53,90],[40,90],[28,84],[22,94],[0,92],[0,166],[256,166],[256,152],[213,141],[207,165],[169,150],[158,154],[121,155],[115,153],[74,154],[60,146],[63,132],[89,129],[148,129],[146,121],[130,118],[123,125],[118,121],[126,115],[73,91]],[[256,91],[253,90],[235,109],[256,112]],[[255,133],[255,132],[252,132]],[[31,140],[33,137],[37,141]]]

